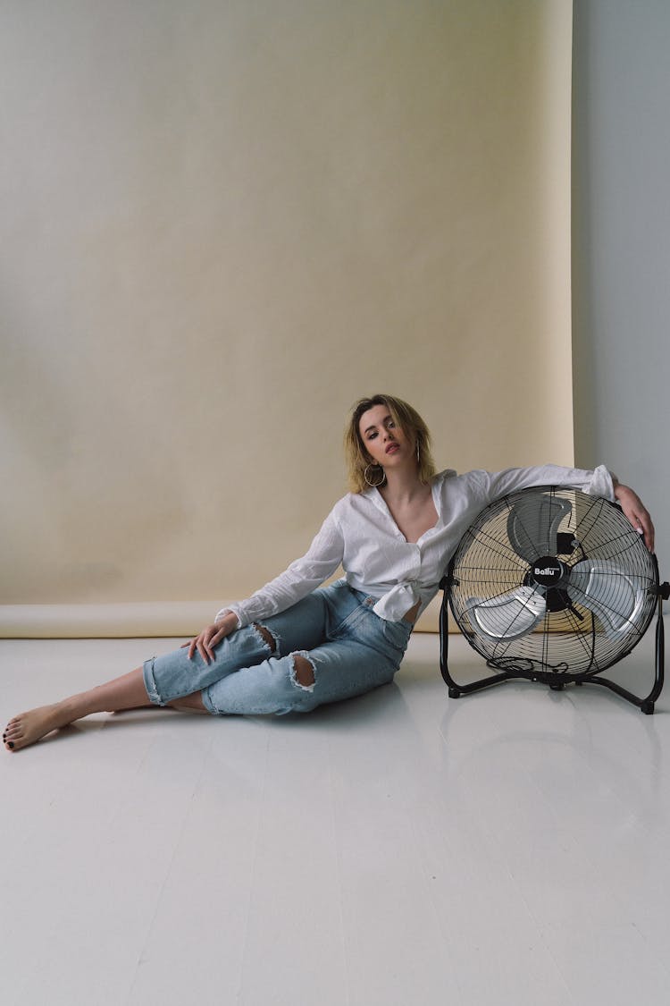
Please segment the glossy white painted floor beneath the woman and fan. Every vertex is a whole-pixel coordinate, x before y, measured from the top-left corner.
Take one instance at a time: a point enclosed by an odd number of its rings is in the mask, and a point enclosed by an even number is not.
[[[2,722],[174,646],[4,641]],[[394,685],[303,717],[0,750],[2,1001],[666,1006],[670,690],[453,700],[437,659],[417,635]],[[461,639],[450,666],[484,671]]]

